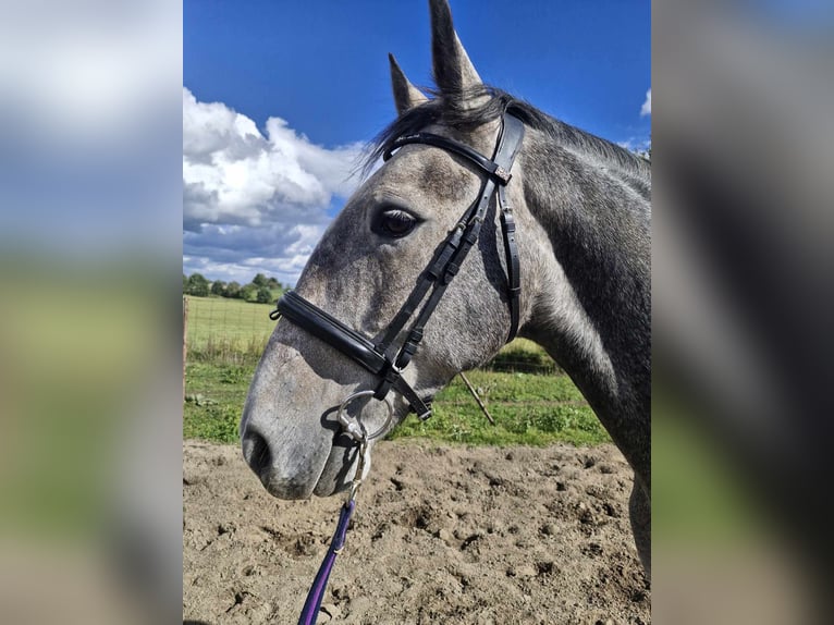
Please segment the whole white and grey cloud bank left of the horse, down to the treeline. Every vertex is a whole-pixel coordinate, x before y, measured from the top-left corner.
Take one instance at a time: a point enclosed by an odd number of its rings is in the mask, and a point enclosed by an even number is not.
[[[359,144],[328,149],[270,118],[266,135],[183,88],[183,262],[220,279],[294,282],[334,198],[358,184]]]

